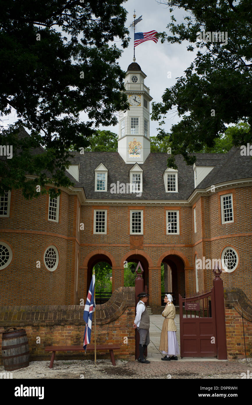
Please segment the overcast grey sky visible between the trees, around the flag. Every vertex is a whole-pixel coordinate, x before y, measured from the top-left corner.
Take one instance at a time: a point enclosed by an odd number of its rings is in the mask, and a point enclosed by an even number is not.
[[[134,9],[136,10],[136,18],[142,15],[142,21],[136,25],[136,32],[148,32],[156,30],[158,32],[167,32],[167,24],[171,21],[171,13],[169,7],[164,4],[159,4],[156,0],[128,0],[125,1],[123,7],[128,12],[126,27],[133,21]],[[174,11],[175,18],[178,23],[184,21],[186,11],[176,9]],[[129,64],[133,61],[134,47],[134,30],[129,28],[130,43],[127,49],[123,50],[122,56],[119,59],[119,65],[122,70],[127,70]],[[65,35],[65,34],[64,34]],[[121,40],[115,42],[121,48]],[[142,71],[147,75],[144,83],[150,87],[150,96],[153,97],[152,102],[162,101],[162,94],[167,87],[176,83],[176,78],[184,74],[184,70],[188,68],[194,60],[196,53],[188,52],[186,46],[188,43],[184,41],[181,45],[167,43],[161,44],[159,39],[157,44],[154,41],[146,41],[136,47],[136,62],[141,66]],[[171,78],[167,78],[167,72],[171,72]],[[7,126],[17,121],[15,110],[8,117],[3,117],[3,124]],[[88,120],[87,114],[81,113],[80,119]],[[169,130],[173,124],[176,124],[180,118],[174,113],[167,114],[165,130]],[[150,136],[157,135],[158,122],[150,121]],[[100,129],[108,129],[118,134],[118,125],[110,127],[102,127]],[[30,132],[30,131],[28,131]]]

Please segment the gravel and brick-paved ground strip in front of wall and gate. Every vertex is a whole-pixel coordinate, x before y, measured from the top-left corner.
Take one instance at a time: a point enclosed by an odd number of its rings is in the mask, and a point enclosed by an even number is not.
[[[169,362],[171,363],[171,362]],[[179,364],[180,363],[180,364]],[[116,360],[55,360],[30,362],[29,367],[13,371],[13,379],[241,379],[241,372],[252,372],[252,358],[229,362],[151,362],[141,364]],[[0,366],[0,373],[4,367]]]

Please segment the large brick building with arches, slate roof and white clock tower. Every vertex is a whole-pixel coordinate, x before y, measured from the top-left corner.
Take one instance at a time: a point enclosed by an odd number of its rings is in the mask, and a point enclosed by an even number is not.
[[[233,147],[196,153],[167,168],[150,153],[150,90],[134,61],[119,113],[118,152],[74,152],[57,199],[30,201],[11,190],[0,201],[0,305],[76,305],[86,298],[93,266],[112,266],[112,288],[124,264],[140,261],[149,305],[161,305],[161,263],[174,296],[212,288],[222,260],[224,287],[252,300],[252,161]],[[20,136],[28,136],[23,130]],[[48,188],[50,185],[48,185]]]

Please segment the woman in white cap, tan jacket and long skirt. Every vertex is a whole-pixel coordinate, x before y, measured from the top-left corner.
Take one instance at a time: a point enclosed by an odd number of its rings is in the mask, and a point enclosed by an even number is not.
[[[162,350],[162,353],[166,356],[162,357],[161,360],[178,360],[179,347],[176,337],[177,327],[174,321],[176,310],[172,304],[173,299],[171,294],[165,294],[164,301],[166,305],[162,316],[165,319],[160,337],[159,350]]]

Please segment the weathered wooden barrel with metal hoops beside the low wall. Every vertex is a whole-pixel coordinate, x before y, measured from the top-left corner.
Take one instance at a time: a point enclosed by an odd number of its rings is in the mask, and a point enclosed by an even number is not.
[[[10,329],[15,329],[11,330]],[[2,334],[4,369],[13,371],[29,366],[29,344],[25,329],[8,328]]]

